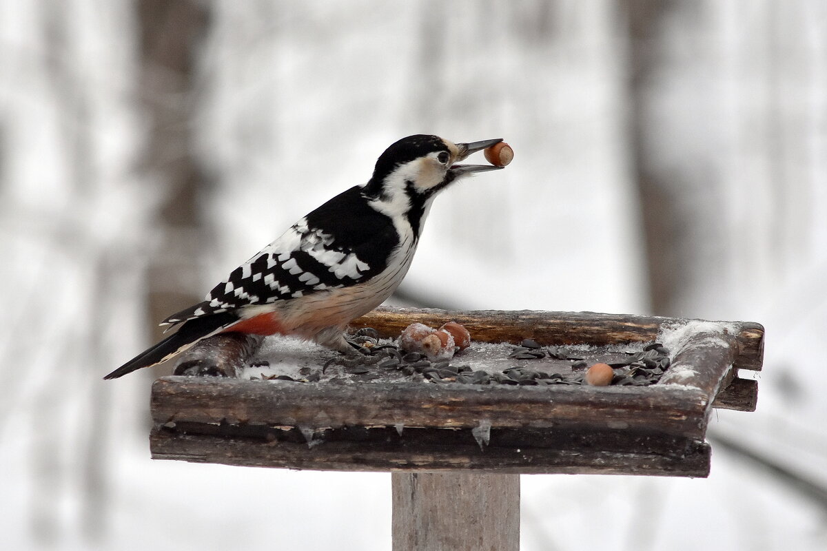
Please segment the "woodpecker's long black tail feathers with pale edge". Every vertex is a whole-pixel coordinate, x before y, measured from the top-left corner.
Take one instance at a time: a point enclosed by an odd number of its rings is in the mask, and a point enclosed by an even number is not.
[[[123,377],[127,373],[132,373],[136,371],[136,369],[148,368],[156,363],[161,363],[166,359],[172,358],[175,354],[180,354],[184,352],[184,350],[189,349],[199,340],[220,333],[237,321],[239,321],[238,316],[230,312],[222,312],[221,314],[213,314],[211,316],[189,320],[185,322],[184,325],[181,325],[181,328],[177,330],[174,335],[170,335],[150,349],[144,350],[135,358],[124,363],[120,368],[109,373],[104,379],[116,379]]]

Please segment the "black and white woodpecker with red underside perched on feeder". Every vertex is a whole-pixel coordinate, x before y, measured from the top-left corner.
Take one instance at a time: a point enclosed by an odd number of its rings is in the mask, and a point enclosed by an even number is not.
[[[390,297],[414,259],[434,197],[492,165],[457,164],[502,140],[455,144],[411,135],[373,176],[296,222],[218,283],[203,302],[166,318],[179,329],[105,378],[122,377],[222,332],[295,335],[353,353],[344,330]]]

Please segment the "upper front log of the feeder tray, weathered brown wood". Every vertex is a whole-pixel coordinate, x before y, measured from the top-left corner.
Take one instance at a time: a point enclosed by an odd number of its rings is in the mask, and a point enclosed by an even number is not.
[[[164,377],[152,385],[158,425],[394,426],[576,430],[619,427],[702,438],[710,397],[689,387],[508,387],[428,382],[331,384]]]

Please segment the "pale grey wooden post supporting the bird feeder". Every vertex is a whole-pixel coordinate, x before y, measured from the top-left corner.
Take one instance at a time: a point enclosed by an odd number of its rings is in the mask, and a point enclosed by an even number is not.
[[[393,473],[394,551],[517,551],[519,474]]]

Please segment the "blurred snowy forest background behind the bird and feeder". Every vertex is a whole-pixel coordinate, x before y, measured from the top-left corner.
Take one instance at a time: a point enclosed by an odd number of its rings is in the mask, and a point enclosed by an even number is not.
[[[516,156],[407,300],[767,327],[708,479],[523,477],[522,548],[825,549],[827,2],[0,0],[3,549],[390,549],[389,475],[153,462],[101,378],[420,132]]]

